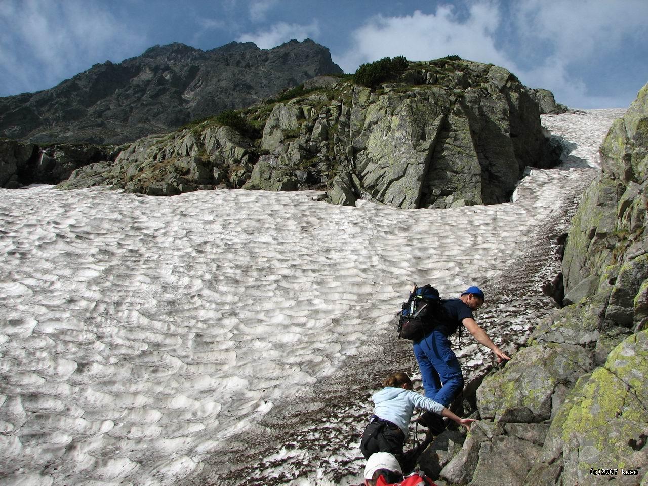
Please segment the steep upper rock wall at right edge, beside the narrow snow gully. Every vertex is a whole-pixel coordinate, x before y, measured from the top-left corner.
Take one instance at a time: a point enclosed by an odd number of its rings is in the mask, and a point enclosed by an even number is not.
[[[599,152],[601,175],[586,191],[567,239],[562,264],[566,293],[610,264],[629,264],[647,251],[648,84],[612,124]]]

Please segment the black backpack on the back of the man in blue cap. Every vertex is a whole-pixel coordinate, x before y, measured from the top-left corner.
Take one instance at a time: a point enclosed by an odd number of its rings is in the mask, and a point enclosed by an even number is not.
[[[427,332],[439,324],[442,312],[439,291],[430,284],[417,287],[402,305],[399,316],[399,338],[411,341],[421,340]]]

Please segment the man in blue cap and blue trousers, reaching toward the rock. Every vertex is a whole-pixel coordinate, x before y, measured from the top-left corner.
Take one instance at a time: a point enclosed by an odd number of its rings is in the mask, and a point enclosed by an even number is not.
[[[498,363],[511,359],[492,342],[474,319],[472,311],[480,308],[484,301],[484,293],[478,286],[470,286],[458,299],[443,301],[444,318],[424,338],[414,341],[414,356],[421,369],[425,396],[443,406],[449,406],[463,390],[461,366],[448,339],[459,326],[463,325],[476,340],[490,349],[497,356]],[[422,418],[421,422],[435,434],[445,428],[438,415],[426,413]]]

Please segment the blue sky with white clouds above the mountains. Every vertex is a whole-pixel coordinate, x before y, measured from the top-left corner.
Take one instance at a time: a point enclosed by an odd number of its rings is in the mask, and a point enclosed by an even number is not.
[[[625,108],[648,82],[648,0],[0,0],[0,96],[148,47],[329,47],[346,73],[384,56],[501,65],[572,108]]]

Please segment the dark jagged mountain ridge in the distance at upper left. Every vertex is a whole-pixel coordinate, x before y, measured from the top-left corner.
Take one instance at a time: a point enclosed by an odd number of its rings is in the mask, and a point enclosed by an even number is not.
[[[120,144],[244,108],[314,76],[342,74],[311,40],[273,49],[231,42],[202,51],[151,47],[97,64],[51,89],[0,98],[0,136],[34,143]]]

